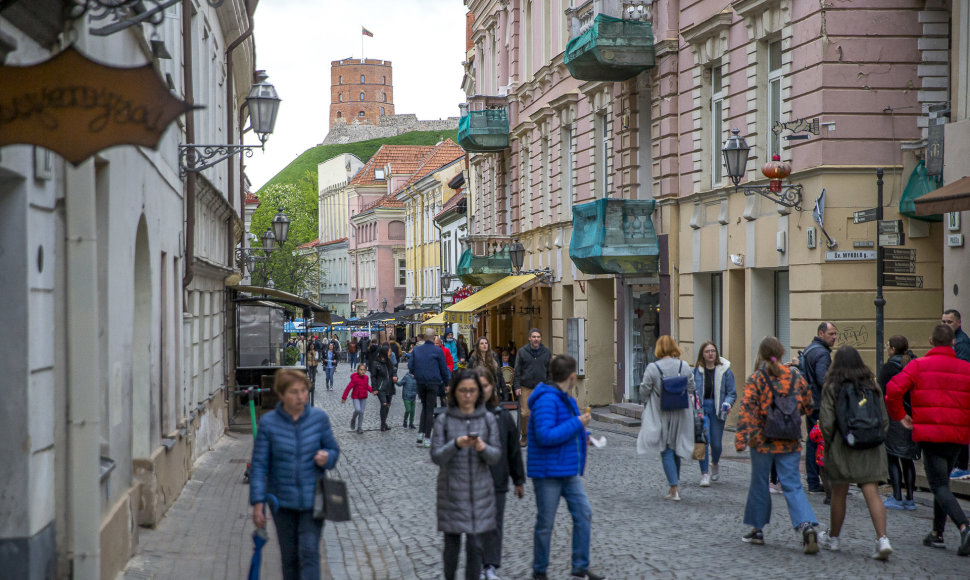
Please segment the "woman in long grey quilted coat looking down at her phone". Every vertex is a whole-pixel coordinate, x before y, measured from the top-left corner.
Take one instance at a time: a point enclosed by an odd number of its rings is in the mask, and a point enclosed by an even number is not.
[[[446,580],[458,569],[461,536],[465,535],[465,578],[482,572],[479,536],[495,529],[495,488],[490,465],[502,456],[495,415],[485,409],[476,371],[455,373],[448,389],[448,408],[435,420],[431,460],[438,472],[438,531],[445,535],[442,559]]]

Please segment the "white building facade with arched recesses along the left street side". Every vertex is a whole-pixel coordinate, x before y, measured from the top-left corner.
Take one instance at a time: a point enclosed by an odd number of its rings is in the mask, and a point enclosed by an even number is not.
[[[4,64],[47,61],[59,51],[48,47],[75,39],[113,66],[154,61],[173,95],[205,104],[155,150],[123,145],[74,166],[39,147],[0,148],[0,320],[17,337],[0,353],[11,443],[0,495],[19,498],[0,502],[0,575],[114,578],[139,526],[157,523],[226,424],[225,286],[238,276],[245,182],[238,161],[181,175],[178,146],[239,142],[256,2],[186,0],[157,29],[108,36],[90,34],[104,20],[5,4]],[[155,57],[153,35],[171,59]]]

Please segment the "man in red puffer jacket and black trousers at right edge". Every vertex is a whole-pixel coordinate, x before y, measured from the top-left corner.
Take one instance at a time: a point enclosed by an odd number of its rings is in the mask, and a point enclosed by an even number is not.
[[[913,441],[923,451],[926,479],[933,491],[933,531],[923,544],[946,548],[943,527],[950,516],[960,527],[957,554],[970,555],[970,526],[966,514],[950,491],[950,472],[960,449],[970,443],[970,363],[953,350],[953,329],[941,324],[930,338],[933,348],[923,358],[910,361],[886,385],[889,416],[913,430]],[[911,391],[911,392],[910,392]],[[910,392],[913,416],[903,408]]]

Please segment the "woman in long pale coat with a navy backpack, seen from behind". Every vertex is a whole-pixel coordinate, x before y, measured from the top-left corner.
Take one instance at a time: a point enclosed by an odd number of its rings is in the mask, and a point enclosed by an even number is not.
[[[670,490],[664,499],[680,501],[680,461],[694,452],[694,369],[680,360],[680,347],[668,335],[657,339],[657,361],[647,365],[640,384],[644,402],[637,453],[659,452]],[[664,381],[667,380],[667,388]],[[686,383],[686,384],[685,384]],[[686,393],[681,395],[682,390]],[[687,399],[680,406],[678,401]],[[669,410],[664,410],[664,409]]]

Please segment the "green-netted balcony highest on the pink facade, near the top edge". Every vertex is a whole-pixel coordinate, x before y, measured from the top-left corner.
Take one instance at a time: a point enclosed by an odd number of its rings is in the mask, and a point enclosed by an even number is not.
[[[566,45],[569,74],[583,81],[624,81],[656,64],[650,22],[597,14]]]

